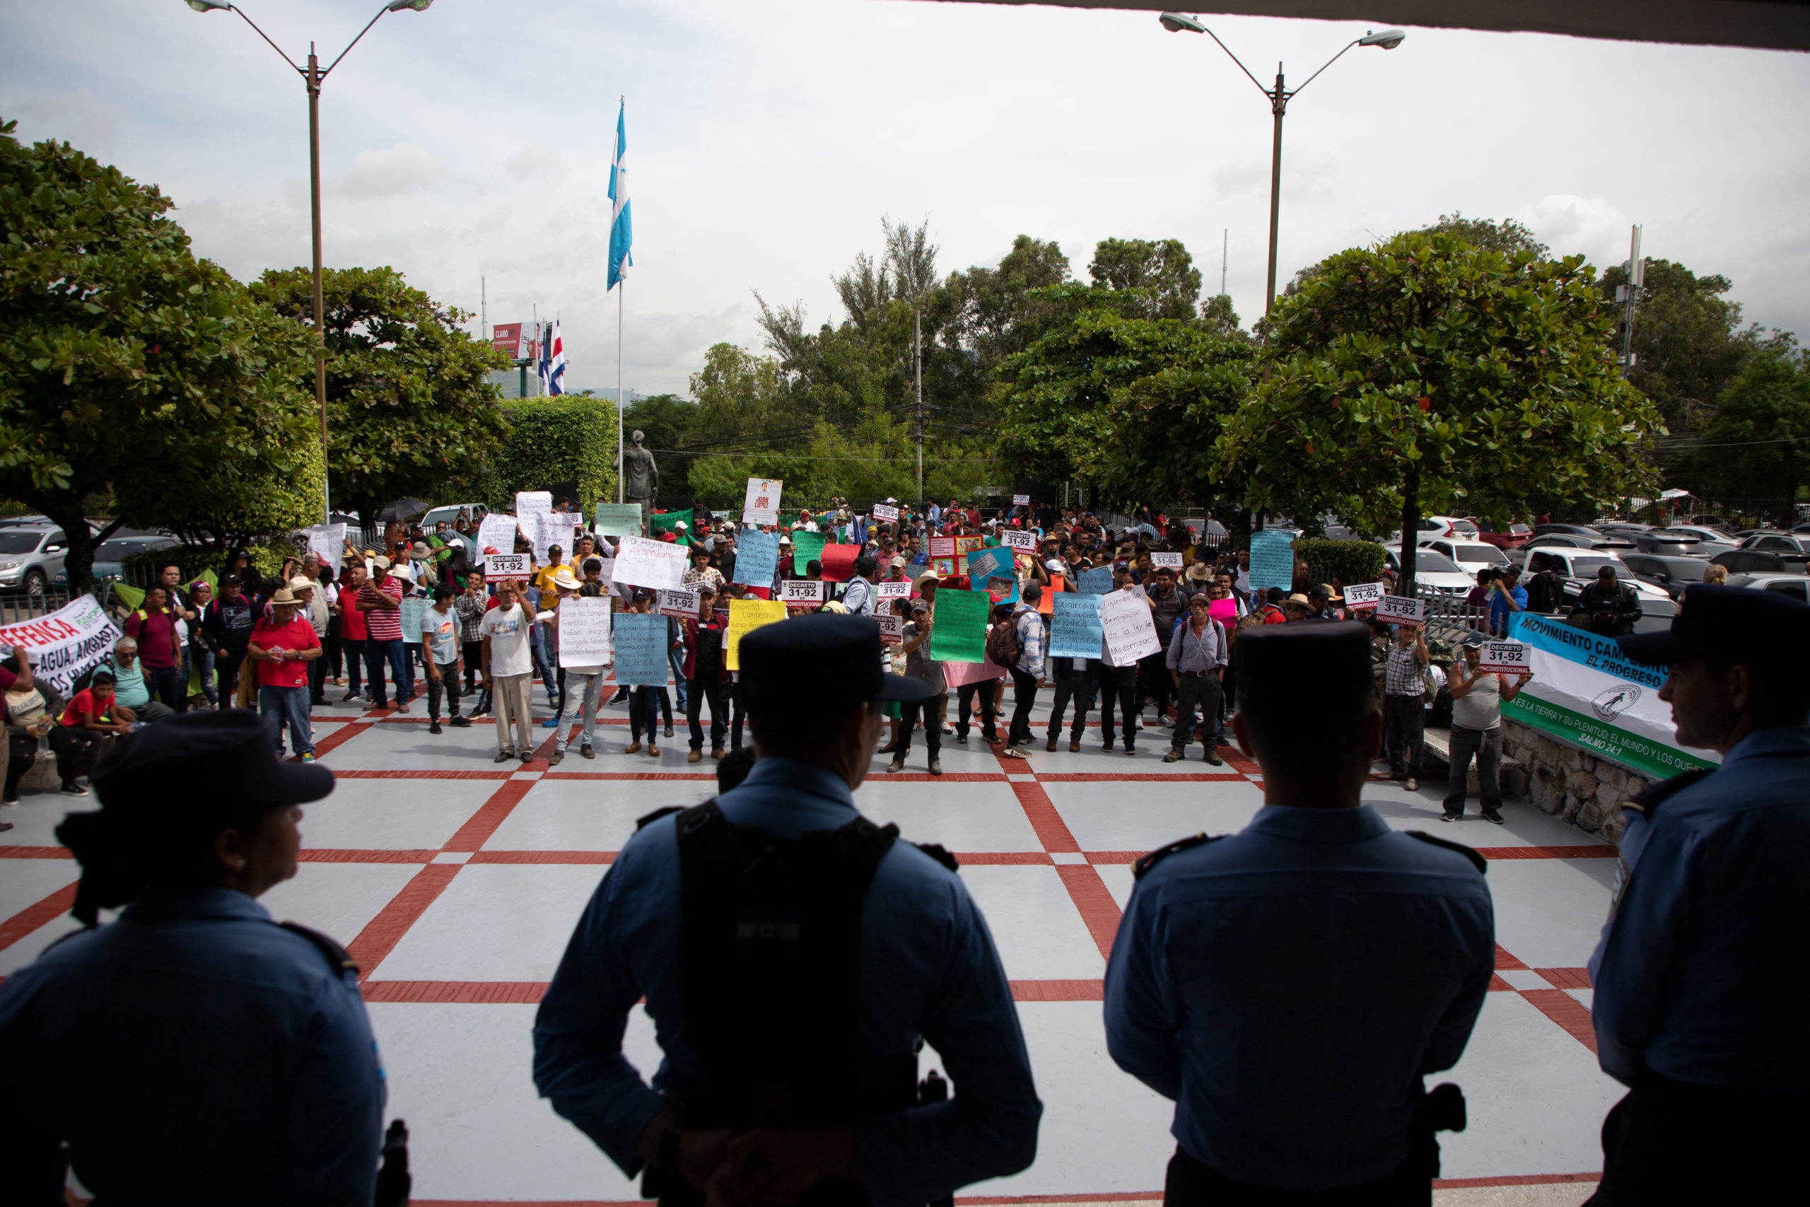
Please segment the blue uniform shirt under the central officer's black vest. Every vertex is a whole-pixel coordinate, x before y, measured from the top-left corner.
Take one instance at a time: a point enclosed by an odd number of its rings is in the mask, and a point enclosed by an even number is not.
[[[795,840],[854,820],[838,776],[791,758],[762,758],[717,798],[731,822]],[[534,1084],[623,1173],[641,1169],[635,1140],[666,1104],[623,1059],[628,1012],[643,995],[666,1057],[653,1086],[702,1082],[684,1041],[679,997],[679,836],[666,816],[628,840],[592,896],[534,1021]],[[1043,1104],[1030,1077],[1012,990],[986,921],[961,879],[909,843],[894,843],[862,907],[862,1088],[892,1084],[892,1060],[919,1037],[943,1059],[948,1102],[854,1124],[854,1153],[876,1207],[921,1207],[959,1185],[1030,1165]]]

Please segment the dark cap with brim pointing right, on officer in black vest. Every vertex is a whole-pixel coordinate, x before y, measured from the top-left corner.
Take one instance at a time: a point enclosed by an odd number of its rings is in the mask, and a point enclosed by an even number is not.
[[[865,615],[813,612],[762,624],[742,637],[738,659],[751,709],[927,700],[936,695],[921,679],[880,670],[880,624]]]

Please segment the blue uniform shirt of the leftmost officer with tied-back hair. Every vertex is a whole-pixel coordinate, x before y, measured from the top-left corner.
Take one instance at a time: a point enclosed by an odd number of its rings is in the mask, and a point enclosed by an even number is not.
[[[0,984],[0,1127],[67,1140],[103,1203],[369,1203],[384,1071],[313,943],[157,890]]]

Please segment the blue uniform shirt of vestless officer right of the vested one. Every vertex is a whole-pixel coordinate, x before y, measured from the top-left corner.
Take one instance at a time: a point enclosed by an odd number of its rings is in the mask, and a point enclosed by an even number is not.
[[[1137,881],[1106,1046],[1227,1178],[1370,1182],[1408,1155],[1414,1089],[1457,1064],[1493,966],[1490,889],[1461,852],[1368,805],[1265,805]]]

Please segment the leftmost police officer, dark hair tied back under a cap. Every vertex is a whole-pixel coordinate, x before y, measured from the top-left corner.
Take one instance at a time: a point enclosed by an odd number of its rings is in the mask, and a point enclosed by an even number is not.
[[[230,709],[123,738],[90,782],[101,807],[56,829],[89,930],[0,984],[0,1202],[63,1203],[67,1145],[100,1203],[371,1203],[384,1073],[357,968],[255,899],[295,876],[333,773],[279,764]]]

